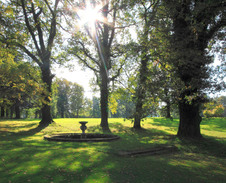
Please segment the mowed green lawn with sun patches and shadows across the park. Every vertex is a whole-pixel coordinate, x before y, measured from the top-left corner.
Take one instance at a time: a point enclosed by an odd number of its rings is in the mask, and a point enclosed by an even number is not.
[[[203,120],[203,139],[179,139],[178,120],[148,118],[144,130],[132,130],[131,121],[109,119],[112,142],[49,142],[46,134],[78,132],[88,121],[89,133],[100,133],[100,119],[55,119],[37,131],[39,120],[0,121],[0,183],[201,183],[226,182],[226,119]],[[173,145],[170,154],[119,156],[123,150]]]

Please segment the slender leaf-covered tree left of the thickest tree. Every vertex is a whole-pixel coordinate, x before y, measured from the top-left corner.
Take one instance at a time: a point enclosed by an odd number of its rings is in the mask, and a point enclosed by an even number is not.
[[[150,50],[152,49],[151,40],[153,31],[153,22],[156,16],[157,6],[159,4],[158,0],[153,1],[138,1],[135,6],[138,9],[138,17],[140,21],[138,25],[138,50],[139,53],[138,61],[139,72],[138,81],[135,93],[135,114],[134,114],[134,125],[133,128],[140,129],[141,119],[146,117],[147,108],[145,107],[145,100],[147,99],[147,80],[148,80],[148,70],[150,67],[150,62],[153,62],[152,54]],[[137,22],[137,18],[135,22]],[[150,86],[149,86],[150,88]],[[150,91],[150,90],[149,90]]]

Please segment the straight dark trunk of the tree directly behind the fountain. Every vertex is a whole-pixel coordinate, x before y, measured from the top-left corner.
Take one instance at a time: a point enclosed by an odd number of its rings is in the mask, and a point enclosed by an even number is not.
[[[100,126],[104,132],[110,132],[108,125],[108,76],[107,71],[103,68],[101,71],[100,86],[100,105],[101,105],[101,123]]]

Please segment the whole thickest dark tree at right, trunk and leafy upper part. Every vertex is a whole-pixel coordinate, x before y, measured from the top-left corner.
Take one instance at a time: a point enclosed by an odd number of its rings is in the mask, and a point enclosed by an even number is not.
[[[201,137],[200,105],[208,82],[208,44],[216,39],[225,22],[222,0],[165,0],[164,6],[173,25],[171,31],[171,64],[183,83],[179,96],[180,137]]]

